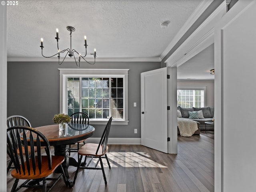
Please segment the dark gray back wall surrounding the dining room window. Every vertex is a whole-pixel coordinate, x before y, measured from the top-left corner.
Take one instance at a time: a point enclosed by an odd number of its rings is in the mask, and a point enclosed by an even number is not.
[[[140,73],[160,68],[160,62],[81,63],[80,68],[130,69],[128,71],[128,125],[112,125],[110,137],[140,138]],[[8,62],[7,115],[23,115],[32,127],[53,124],[59,113],[58,68],[77,68],[74,62]],[[133,103],[137,107],[133,107]],[[104,125],[95,125],[93,137],[101,137]],[[138,133],[134,134],[134,129]]]

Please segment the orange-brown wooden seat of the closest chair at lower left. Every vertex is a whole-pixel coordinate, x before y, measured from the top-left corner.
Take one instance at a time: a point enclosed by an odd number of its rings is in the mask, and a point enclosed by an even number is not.
[[[62,162],[64,162],[64,156],[52,156],[52,169],[49,170],[48,167],[48,157],[47,156],[42,156],[42,170],[41,170],[41,174],[39,174],[39,170],[36,169],[36,174],[34,174],[33,172],[33,168],[32,168],[32,160],[30,158],[30,175],[27,172],[25,174],[20,174],[19,172],[16,172],[16,169],[12,170],[12,177],[17,178],[17,179],[39,179],[39,178],[44,178],[50,174],[52,174],[54,172],[54,170],[60,166],[60,164],[62,164]],[[38,164],[37,161],[37,156],[36,156],[36,166]],[[26,163],[25,163],[25,167],[26,167]],[[22,170],[22,167],[21,167]]]

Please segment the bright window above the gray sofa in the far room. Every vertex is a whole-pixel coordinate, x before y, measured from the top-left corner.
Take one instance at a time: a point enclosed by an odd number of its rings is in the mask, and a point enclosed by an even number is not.
[[[182,87],[177,89],[177,103],[180,107],[204,107],[206,87]]]

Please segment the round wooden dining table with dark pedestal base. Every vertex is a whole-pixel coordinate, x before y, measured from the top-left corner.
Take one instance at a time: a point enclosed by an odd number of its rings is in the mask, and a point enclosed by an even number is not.
[[[77,161],[68,156],[68,145],[91,137],[95,130],[94,127],[92,125],[68,123],[64,129],[59,129],[58,124],[35,127],[35,129],[44,134],[50,145],[54,146],[54,155],[65,157],[66,164],[63,164],[64,181],[69,187],[72,187],[73,181],[68,175],[68,166],[77,166]],[[61,171],[57,170],[57,172]]]

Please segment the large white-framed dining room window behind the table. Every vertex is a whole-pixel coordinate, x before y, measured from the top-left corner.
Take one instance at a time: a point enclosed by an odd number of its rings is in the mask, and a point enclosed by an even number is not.
[[[128,124],[128,69],[59,69],[60,113],[87,113],[92,124]],[[108,74],[106,74],[108,73]]]

